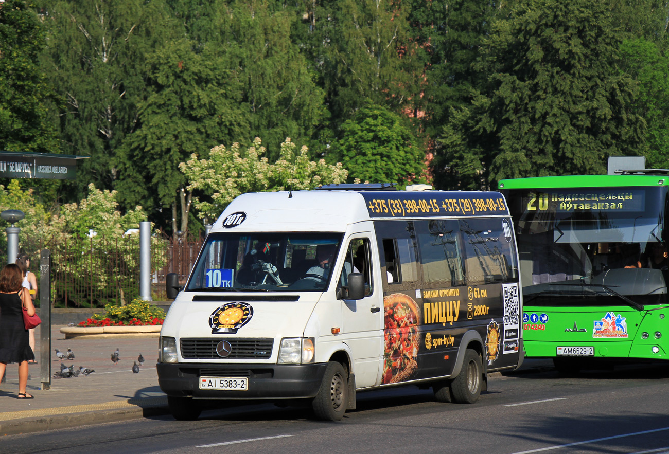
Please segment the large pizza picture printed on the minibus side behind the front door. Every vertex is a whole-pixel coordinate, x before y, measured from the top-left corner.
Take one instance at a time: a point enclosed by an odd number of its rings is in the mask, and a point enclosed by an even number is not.
[[[383,298],[385,330],[382,382],[397,383],[409,380],[417,372],[419,309],[405,294]]]

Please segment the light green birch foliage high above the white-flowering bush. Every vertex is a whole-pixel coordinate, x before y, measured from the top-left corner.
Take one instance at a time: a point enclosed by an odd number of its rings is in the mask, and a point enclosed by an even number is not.
[[[310,142],[327,116],[324,92],[292,39],[295,20],[280,2],[233,1],[221,31],[221,57],[242,84],[250,136],[264,138],[272,159],[286,137]]]

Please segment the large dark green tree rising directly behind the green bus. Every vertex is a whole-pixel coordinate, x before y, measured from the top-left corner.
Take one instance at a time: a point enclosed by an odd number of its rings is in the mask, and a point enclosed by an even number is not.
[[[607,156],[638,150],[645,123],[632,112],[636,84],[619,71],[620,42],[596,0],[522,2],[493,23],[475,67],[487,84],[454,109],[440,137],[442,187],[601,173]],[[470,171],[460,160],[468,150]]]

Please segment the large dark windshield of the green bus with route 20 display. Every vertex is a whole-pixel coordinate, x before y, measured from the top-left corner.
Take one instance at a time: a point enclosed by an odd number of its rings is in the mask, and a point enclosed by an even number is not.
[[[593,295],[666,294],[663,187],[505,192],[528,304],[551,296],[575,306],[579,297],[591,304]]]

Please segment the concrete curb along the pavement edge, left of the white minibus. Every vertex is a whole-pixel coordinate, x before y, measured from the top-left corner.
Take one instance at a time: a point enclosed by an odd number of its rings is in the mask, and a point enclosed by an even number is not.
[[[82,405],[86,407],[97,407],[97,405]],[[49,413],[50,410],[33,410],[37,414]],[[29,413],[29,412],[22,412]],[[92,411],[80,411],[78,413],[65,413],[61,415],[42,415],[38,417],[25,417],[0,421],[0,436],[19,435],[22,433],[35,433],[51,431],[55,429],[67,429],[72,427],[94,425],[102,423],[115,423],[128,421],[130,419],[148,418],[161,415],[169,415],[167,407],[167,396],[142,399],[140,402],[118,409],[104,409]],[[2,413],[0,413],[0,416]]]

